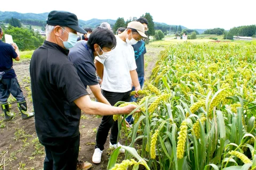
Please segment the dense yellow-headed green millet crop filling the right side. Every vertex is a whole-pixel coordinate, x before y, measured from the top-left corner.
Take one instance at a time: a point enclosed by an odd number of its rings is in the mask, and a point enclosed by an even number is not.
[[[108,168],[256,169],[255,47],[166,47],[139,91],[133,128],[121,132],[129,141],[125,160],[114,164],[114,151]]]

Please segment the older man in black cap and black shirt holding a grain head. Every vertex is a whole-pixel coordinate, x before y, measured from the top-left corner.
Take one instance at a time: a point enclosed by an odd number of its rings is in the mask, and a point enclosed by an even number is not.
[[[91,101],[75,66],[67,58],[68,49],[76,43],[77,32],[85,31],[78,26],[75,14],[65,11],[50,12],[46,41],[31,57],[35,125],[38,139],[45,146],[46,170],[91,167],[91,164],[77,167],[80,109],[87,114],[114,115],[129,114],[136,108],[134,105],[112,107]]]

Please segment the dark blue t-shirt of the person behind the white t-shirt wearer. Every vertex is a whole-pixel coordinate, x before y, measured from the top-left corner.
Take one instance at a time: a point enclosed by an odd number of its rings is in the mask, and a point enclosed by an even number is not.
[[[135,57],[135,62],[137,65],[137,73],[138,77],[143,77],[145,75],[144,72],[144,54],[147,53],[146,47],[145,47],[145,41],[140,40],[138,43],[132,45],[134,49],[134,57]]]

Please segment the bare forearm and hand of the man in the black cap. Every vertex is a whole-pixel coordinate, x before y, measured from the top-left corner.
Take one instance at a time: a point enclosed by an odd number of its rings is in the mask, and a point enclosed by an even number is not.
[[[128,105],[125,107],[114,107],[99,102],[92,101],[89,95],[82,96],[76,100],[74,103],[82,109],[86,114],[91,115],[118,115],[118,114],[130,114],[137,106]],[[136,112],[140,112],[139,110]]]

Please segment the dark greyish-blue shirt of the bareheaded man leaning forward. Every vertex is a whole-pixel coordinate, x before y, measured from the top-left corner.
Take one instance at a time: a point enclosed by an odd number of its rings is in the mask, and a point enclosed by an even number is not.
[[[84,87],[99,84],[96,77],[94,55],[91,48],[87,46],[87,41],[78,41],[73,48],[70,48],[68,60],[76,66]]]

